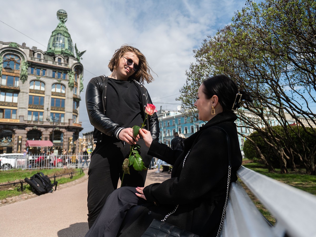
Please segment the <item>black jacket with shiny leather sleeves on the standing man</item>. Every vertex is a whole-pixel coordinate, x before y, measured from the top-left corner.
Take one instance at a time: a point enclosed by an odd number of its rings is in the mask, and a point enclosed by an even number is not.
[[[103,79],[106,79],[105,81],[107,82],[107,78],[103,77]],[[134,80],[133,82],[135,83],[135,85],[137,85],[140,91],[142,100],[140,102],[142,103],[143,108],[145,108],[147,106],[147,103],[152,103],[148,91],[139,82],[136,82]],[[120,130],[122,127],[106,116],[106,111],[104,111],[103,108],[103,104],[106,104],[106,93],[105,96],[102,96],[102,88],[105,88],[106,90],[106,84],[105,87],[102,87],[101,76],[92,78],[86,88],[86,106],[88,116],[90,123],[94,126],[93,143],[102,143],[102,141],[119,142],[120,140],[117,137],[117,131]],[[145,118],[144,110],[143,118]],[[148,123],[145,128],[151,132],[151,136],[153,137],[153,139],[158,141],[160,133],[158,116],[156,113],[154,113],[152,116],[148,116],[148,118]],[[116,136],[114,136],[114,134]]]

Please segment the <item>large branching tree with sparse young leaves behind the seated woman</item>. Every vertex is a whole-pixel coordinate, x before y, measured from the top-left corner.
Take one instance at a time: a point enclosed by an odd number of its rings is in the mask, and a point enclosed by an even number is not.
[[[281,173],[288,173],[289,164],[295,170],[294,158],[300,156],[307,172],[315,174],[316,144],[304,145],[306,138],[298,129],[300,126],[316,137],[310,129],[316,126],[315,17],[316,3],[311,0],[247,1],[233,24],[208,36],[194,51],[197,62],[191,64],[186,85],[180,90],[183,108],[190,111],[198,85],[205,78],[226,74],[251,93],[253,102],[238,112],[239,118],[269,146]],[[297,129],[289,126],[289,120]],[[283,129],[274,127],[275,122]],[[273,172],[269,159],[264,155],[261,159]]]

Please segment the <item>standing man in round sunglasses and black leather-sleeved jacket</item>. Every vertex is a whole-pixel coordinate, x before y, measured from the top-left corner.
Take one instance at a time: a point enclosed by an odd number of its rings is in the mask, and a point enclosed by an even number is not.
[[[89,228],[122,178],[122,164],[128,158],[130,145],[137,142],[141,146],[145,167],[152,158],[147,155],[143,139],[139,135],[133,137],[132,129],[143,123],[144,108],[152,103],[143,86],[144,82],[153,81],[148,62],[137,48],[124,45],[115,51],[108,67],[111,75],[92,78],[86,89],[86,106],[96,143],[88,170]],[[156,113],[149,116],[145,127],[157,140],[160,131]],[[147,170],[138,172],[131,168],[122,186],[143,186],[146,175]]]

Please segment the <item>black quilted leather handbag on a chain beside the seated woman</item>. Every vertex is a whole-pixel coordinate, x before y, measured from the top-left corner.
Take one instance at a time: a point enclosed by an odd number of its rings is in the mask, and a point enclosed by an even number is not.
[[[154,219],[142,237],[199,237],[169,223]]]

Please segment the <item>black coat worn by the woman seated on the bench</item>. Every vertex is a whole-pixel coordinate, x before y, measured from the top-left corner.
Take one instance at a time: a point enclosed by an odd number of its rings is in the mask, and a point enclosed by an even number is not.
[[[141,236],[154,218],[163,219],[177,204],[178,209],[166,222],[201,236],[216,236],[226,198],[228,149],[231,149],[231,182],[237,180],[236,171],[242,161],[236,119],[233,112],[216,115],[185,139],[183,153],[153,141],[148,154],[173,165],[171,178],[144,188],[149,203],[137,207],[132,218],[139,215],[138,218],[128,228],[124,227],[120,236]],[[230,148],[226,133],[218,127],[228,133]]]

